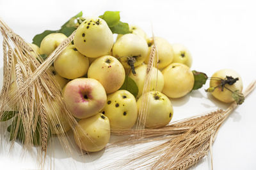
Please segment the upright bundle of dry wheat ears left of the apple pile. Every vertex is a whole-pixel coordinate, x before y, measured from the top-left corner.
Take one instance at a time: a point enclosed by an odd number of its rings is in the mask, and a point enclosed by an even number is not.
[[[70,124],[74,133],[77,132],[74,129],[77,121],[67,110],[67,106],[65,106],[61,97],[61,89],[58,83],[56,83],[56,80],[54,80],[51,72],[47,70],[58,55],[65,50],[65,47],[70,44],[76,31],[63,41],[45,61],[42,60],[39,54],[37,54],[38,60],[33,57],[31,52],[36,52],[1,19],[0,31],[3,35],[4,59],[4,80],[0,96],[0,118],[3,117],[4,111],[8,110],[8,105],[16,106],[18,113],[13,118],[13,121],[17,118],[17,124],[13,124],[12,126],[12,129],[14,129],[12,146],[18,136],[24,136],[23,155],[33,146],[33,140],[35,140],[33,139],[33,132],[36,131],[38,121],[40,122],[41,148],[38,150],[38,162],[41,169],[44,169],[47,147],[50,143],[49,125],[56,121],[60,122],[60,118],[58,117],[56,118],[57,120],[47,117],[50,114],[49,111],[52,113],[56,112],[52,105],[52,100],[56,101],[62,109],[62,114],[67,118],[68,124]],[[10,93],[11,83],[17,86],[17,89],[13,90],[12,94]],[[0,125],[3,129],[3,124]],[[22,134],[18,131],[20,125],[24,129]],[[58,138],[63,148],[65,148],[67,153],[72,154],[73,145],[70,143],[61,124],[56,131],[58,131]]]

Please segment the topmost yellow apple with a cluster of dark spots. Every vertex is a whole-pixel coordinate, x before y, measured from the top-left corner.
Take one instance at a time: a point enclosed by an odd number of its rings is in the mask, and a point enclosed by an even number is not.
[[[113,33],[108,24],[98,17],[88,17],[77,28],[74,45],[86,57],[108,55],[113,46]]]

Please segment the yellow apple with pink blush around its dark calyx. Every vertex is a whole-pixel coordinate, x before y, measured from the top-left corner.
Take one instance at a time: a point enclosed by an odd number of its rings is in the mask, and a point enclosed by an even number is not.
[[[104,108],[107,95],[104,87],[93,78],[76,78],[67,83],[63,99],[76,118],[87,118]]]

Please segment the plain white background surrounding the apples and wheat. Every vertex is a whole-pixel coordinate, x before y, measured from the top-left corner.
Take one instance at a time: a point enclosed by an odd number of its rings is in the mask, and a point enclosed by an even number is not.
[[[193,55],[191,69],[209,76],[219,69],[234,69],[241,74],[244,87],[256,78],[256,10],[253,1],[0,0],[0,17],[30,43],[35,34],[45,29],[59,29],[81,10],[84,15],[97,16],[106,10],[121,11],[122,21],[139,25],[148,36],[151,36],[152,25],[155,36],[186,45]],[[0,67],[3,69],[3,51],[0,49]],[[204,88],[207,87],[208,83]],[[253,92],[246,98],[221,127],[213,145],[214,169],[256,169],[255,94]],[[205,94],[204,89],[172,100],[172,103],[173,120],[228,106]],[[112,153],[93,154],[94,161],[87,160],[84,164],[63,154],[60,146],[55,147],[52,151],[56,152],[56,169],[96,169],[102,163],[111,164],[108,158]],[[10,153],[8,147],[1,148],[0,169],[36,168],[35,153],[28,153],[26,159],[20,160],[20,148],[18,143]],[[193,169],[209,169],[209,164],[205,157]]]

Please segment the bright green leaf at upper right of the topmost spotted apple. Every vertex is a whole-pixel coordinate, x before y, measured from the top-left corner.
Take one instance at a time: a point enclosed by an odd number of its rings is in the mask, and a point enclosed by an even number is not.
[[[109,27],[114,27],[120,21],[120,11],[106,11],[99,17],[105,20]]]

